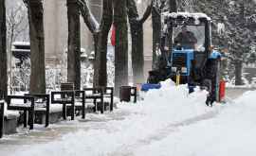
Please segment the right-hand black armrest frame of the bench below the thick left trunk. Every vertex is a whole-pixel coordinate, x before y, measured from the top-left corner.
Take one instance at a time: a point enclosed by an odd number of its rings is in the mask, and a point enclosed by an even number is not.
[[[46,113],[46,127],[49,125],[49,109],[50,109],[50,95],[46,94],[26,94],[33,96],[35,99],[35,113],[40,111]]]

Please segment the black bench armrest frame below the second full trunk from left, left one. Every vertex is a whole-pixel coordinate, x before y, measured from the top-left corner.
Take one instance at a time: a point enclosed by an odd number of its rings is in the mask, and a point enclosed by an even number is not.
[[[51,104],[63,105],[63,118],[66,119],[66,106],[71,105],[71,120],[75,119],[75,93],[74,91],[51,92]]]

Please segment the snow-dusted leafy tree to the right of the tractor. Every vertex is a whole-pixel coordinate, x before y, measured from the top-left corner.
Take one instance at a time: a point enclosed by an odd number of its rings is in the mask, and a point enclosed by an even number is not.
[[[243,64],[256,61],[255,52],[251,50],[256,43],[256,2],[196,0],[193,8],[212,18],[212,42],[229,49],[229,73],[234,71],[235,84],[241,85]]]

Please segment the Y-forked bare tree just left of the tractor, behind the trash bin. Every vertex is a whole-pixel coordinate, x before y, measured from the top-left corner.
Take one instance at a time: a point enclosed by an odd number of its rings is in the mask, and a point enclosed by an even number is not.
[[[135,0],[127,0],[127,9],[132,36],[133,76],[134,83],[137,84],[144,81],[143,24],[151,15],[152,1],[141,18],[137,13]]]

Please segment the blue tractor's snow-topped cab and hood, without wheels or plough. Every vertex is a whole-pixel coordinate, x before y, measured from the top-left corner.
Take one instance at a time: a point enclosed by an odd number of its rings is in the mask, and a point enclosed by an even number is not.
[[[181,83],[199,82],[211,55],[210,17],[204,13],[177,12],[164,16],[170,41],[169,61],[172,75],[180,74]]]

